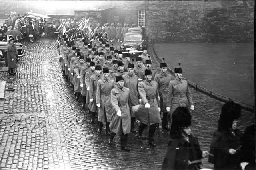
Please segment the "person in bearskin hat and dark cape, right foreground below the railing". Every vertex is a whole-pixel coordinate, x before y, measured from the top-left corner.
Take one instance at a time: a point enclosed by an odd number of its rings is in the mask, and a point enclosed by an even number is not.
[[[214,170],[240,170],[242,132],[236,129],[236,120],[241,117],[241,106],[233,101],[226,102],[221,109],[218,129],[210,145],[208,162]]]

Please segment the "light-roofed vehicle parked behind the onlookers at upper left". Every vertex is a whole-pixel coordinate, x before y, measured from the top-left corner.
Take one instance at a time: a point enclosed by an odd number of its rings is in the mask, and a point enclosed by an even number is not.
[[[27,12],[28,16],[35,16],[36,19],[40,18],[41,23],[45,24],[47,23],[47,36],[48,37],[53,37],[54,35],[58,35],[58,26],[53,25],[52,18],[42,15],[42,14],[37,14],[34,12]],[[28,17],[28,18],[33,18],[33,17]]]

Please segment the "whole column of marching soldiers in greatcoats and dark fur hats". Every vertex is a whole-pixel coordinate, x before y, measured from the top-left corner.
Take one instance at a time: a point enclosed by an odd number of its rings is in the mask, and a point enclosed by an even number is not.
[[[115,135],[120,134],[124,151],[130,151],[127,147],[128,133],[136,133],[136,118],[140,121],[138,139],[149,126],[148,145],[156,147],[154,133],[161,121],[160,113],[163,113],[162,129],[169,130],[167,115],[176,107],[172,106],[176,103],[170,99],[180,96],[184,98],[182,106],[190,104],[194,109],[187,83],[180,78],[181,68],[175,69],[174,80],[167,72],[165,62],[160,63],[161,71],[156,74],[151,69],[152,61],[146,47],[134,61],[129,53],[123,56],[122,51],[117,47],[114,49],[113,44],[110,47],[104,39],[95,37],[89,42],[79,37],[72,47],[63,37],[59,53],[63,76],[73,88],[76,100],[81,98],[82,107],[88,105],[90,123],[94,124],[98,117],[98,133],[102,133],[102,127],[106,125],[110,145]],[[177,86],[182,87],[181,92],[177,91]]]

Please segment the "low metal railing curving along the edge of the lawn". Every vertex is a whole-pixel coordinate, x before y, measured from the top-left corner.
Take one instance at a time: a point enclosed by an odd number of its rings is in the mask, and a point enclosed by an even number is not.
[[[156,51],[154,49],[154,43],[152,44],[152,49],[153,49],[154,55],[156,56],[156,59],[158,60],[158,62],[159,63],[163,62],[162,59],[160,59],[160,57],[158,57],[158,55],[156,54]],[[167,68],[171,72],[171,74],[174,76],[174,70],[170,69],[169,67],[167,67]],[[244,102],[241,102],[241,101],[238,101],[238,100],[235,100],[235,99],[223,96],[221,94],[212,92],[212,90],[208,90],[208,89],[206,89],[206,88],[204,88],[202,86],[199,86],[198,84],[193,83],[193,82],[191,82],[190,80],[188,80],[188,79],[186,79],[184,77],[182,77],[182,79],[186,80],[191,87],[195,88],[196,91],[200,91],[200,92],[202,92],[204,94],[209,95],[211,98],[215,98],[215,99],[220,100],[222,102],[227,102],[227,101],[237,102],[237,103],[239,103],[241,105],[242,108],[244,108],[244,109],[246,109],[248,111],[252,111],[254,113],[254,105],[247,104],[247,103],[244,103]]]

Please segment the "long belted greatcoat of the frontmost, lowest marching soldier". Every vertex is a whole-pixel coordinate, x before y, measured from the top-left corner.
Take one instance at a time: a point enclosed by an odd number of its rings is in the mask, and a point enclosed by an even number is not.
[[[111,103],[114,107],[114,112],[110,121],[110,131],[116,134],[130,133],[131,130],[131,115],[128,101],[130,98],[130,90],[126,87],[120,89],[119,87],[113,88],[110,92]],[[121,110],[122,116],[118,116],[116,113]]]

